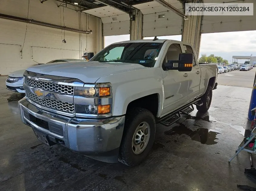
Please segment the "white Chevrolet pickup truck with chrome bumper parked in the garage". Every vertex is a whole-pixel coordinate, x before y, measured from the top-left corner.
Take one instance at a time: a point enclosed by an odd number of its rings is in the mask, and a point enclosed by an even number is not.
[[[28,68],[19,110],[47,145],[134,166],[151,150],[156,123],[170,126],[193,104],[209,109],[217,75],[217,65],[198,64],[190,44],[124,41],[89,62]]]

